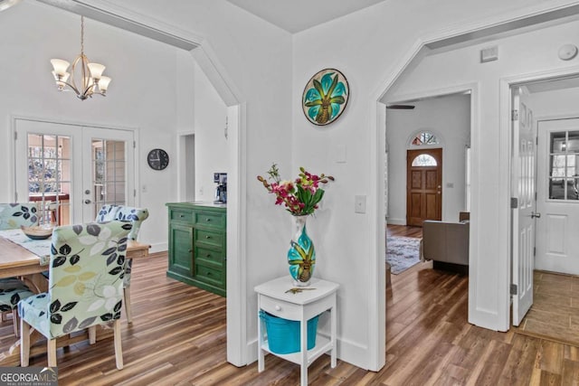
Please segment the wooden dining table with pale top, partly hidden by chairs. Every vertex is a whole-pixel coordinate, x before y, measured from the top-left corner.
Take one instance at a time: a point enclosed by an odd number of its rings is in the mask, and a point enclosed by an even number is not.
[[[21,230],[0,231],[0,278],[23,278],[33,292],[48,291],[48,279],[43,272],[48,270],[50,262],[51,239],[29,240]],[[24,237],[23,237],[24,236]],[[127,259],[141,259],[148,256],[150,245],[137,240],[128,240]],[[97,340],[111,335],[111,331],[97,334]],[[43,335],[31,328],[31,356],[46,352],[46,344],[34,344],[42,341]],[[57,340],[57,347],[63,347],[89,338],[88,332],[67,335]],[[45,341],[44,341],[45,343]],[[4,353],[0,353],[0,367],[20,365],[20,339],[14,336],[14,344]]]

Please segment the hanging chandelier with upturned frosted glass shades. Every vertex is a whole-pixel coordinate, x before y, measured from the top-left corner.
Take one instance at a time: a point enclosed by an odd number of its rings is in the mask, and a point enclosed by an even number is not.
[[[81,99],[92,98],[93,94],[105,97],[109,88],[110,78],[102,76],[105,66],[99,63],[90,63],[84,54],[84,16],[81,16],[81,54],[72,61],[71,72],[67,72],[71,63],[62,59],[51,59],[52,75],[56,80],[59,91],[72,89]],[[75,76],[78,77],[75,79]],[[71,78],[70,81],[69,78]]]

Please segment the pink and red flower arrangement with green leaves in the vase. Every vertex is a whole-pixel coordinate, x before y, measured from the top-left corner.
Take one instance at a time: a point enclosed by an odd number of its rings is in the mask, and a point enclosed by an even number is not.
[[[324,196],[324,190],[320,185],[334,181],[331,175],[311,174],[303,167],[299,168],[298,178],[294,181],[281,181],[280,170],[276,164],[271,165],[268,174],[271,183],[261,175],[258,175],[257,179],[269,193],[275,194],[275,204],[283,204],[286,211],[293,216],[313,214],[318,209],[318,202]]]

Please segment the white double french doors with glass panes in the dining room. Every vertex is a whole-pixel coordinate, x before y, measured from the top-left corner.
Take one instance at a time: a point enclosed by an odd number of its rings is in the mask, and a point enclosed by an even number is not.
[[[15,120],[14,200],[38,202],[43,223],[93,221],[102,204],[134,205],[134,133]]]

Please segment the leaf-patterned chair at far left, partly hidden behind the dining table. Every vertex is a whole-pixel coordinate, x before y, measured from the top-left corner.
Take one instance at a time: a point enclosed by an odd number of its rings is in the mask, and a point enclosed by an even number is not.
[[[21,225],[38,225],[38,208],[35,202],[0,203],[0,231],[19,229]],[[14,335],[18,336],[18,312],[16,305],[33,292],[18,278],[0,278],[0,312],[12,313]]]

